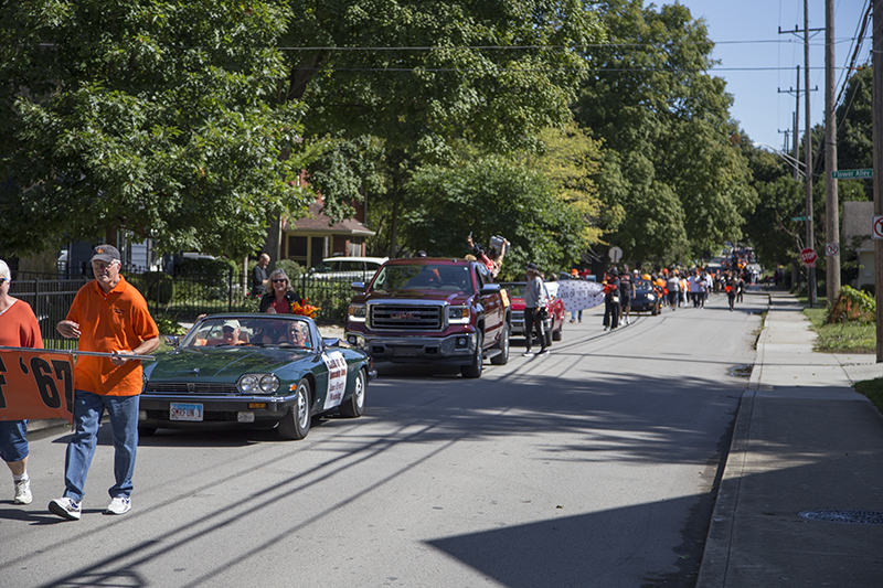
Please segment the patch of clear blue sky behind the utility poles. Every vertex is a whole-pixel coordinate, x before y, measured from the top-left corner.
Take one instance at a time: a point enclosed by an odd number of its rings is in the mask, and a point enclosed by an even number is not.
[[[845,84],[844,71],[854,51],[853,38],[871,0],[834,0],[834,39],[838,86],[834,96]],[[645,6],[651,2],[646,1]],[[674,0],[656,0],[656,7],[672,4]],[[721,63],[711,74],[726,81],[726,90],[733,95],[731,117],[755,142],[777,149],[785,146],[786,135],[780,130],[794,128],[797,71],[800,65],[800,133],[805,126],[804,87],[804,0],[679,0],[690,9],[693,19],[704,19],[709,39],[715,43],[712,57]],[[809,29],[825,28],[825,0],[809,0]],[[801,30],[799,34],[779,34]],[[815,36],[812,36],[815,35]],[[871,25],[857,63],[871,61]],[[825,31],[810,31],[810,93],[811,125],[821,125],[825,115]],[[778,90],[784,90],[779,93]],[[788,135],[790,140],[790,135]],[[790,151],[790,143],[788,147]]]

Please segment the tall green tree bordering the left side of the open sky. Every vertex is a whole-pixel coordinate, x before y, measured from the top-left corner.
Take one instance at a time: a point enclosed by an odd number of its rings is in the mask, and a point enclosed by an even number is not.
[[[621,222],[608,240],[635,265],[685,261],[738,240],[756,193],[730,120],[732,97],[713,65],[704,22],[681,6],[598,4],[609,45],[575,107],[581,126],[617,157],[605,159],[602,197]]]

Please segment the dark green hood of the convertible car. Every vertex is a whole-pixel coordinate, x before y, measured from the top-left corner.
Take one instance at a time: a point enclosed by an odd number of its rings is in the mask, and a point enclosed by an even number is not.
[[[274,372],[305,360],[310,351],[258,348],[182,349],[145,367],[148,379],[208,379],[235,382],[242,374]]]

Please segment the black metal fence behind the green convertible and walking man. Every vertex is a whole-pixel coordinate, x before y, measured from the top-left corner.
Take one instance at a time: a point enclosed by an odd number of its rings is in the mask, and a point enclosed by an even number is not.
[[[213,274],[171,276],[164,271],[128,271],[123,275],[143,295],[150,313],[163,333],[177,324],[188,324],[200,314],[214,312],[257,312],[259,296],[247,296],[240,274],[230,270]],[[10,293],[28,302],[36,314],[43,344],[47,349],[74,349],[76,341],[62,338],[55,330],[64,320],[74,296],[88,279],[58,279],[51,274],[13,272]],[[319,308],[317,322],[342,323],[352,299],[351,281],[315,278],[304,275],[294,280],[296,292]]]

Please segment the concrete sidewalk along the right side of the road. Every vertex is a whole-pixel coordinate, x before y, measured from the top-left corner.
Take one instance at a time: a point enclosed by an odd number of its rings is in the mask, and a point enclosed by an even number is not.
[[[852,388],[883,364],[815,353],[797,299],[769,295],[696,586],[883,586],[883,417]]]

